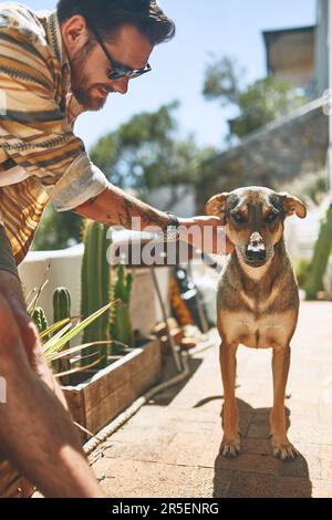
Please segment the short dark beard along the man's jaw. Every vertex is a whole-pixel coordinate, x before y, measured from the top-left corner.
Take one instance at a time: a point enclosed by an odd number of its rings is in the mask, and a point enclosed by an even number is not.
[[[84,54],[71,60],[71,91],[86,111],[97,112],[104,107],[107,97],[92,97],[91,87],[84,87],[89,84],[89,76],[84,74]]]

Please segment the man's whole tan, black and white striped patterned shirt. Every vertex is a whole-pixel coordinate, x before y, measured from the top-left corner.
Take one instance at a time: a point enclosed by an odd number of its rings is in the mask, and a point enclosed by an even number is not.
[[[108,185],[73,133],[84,108],[70,89],[56,11],[0,3],[0,221],[17,264],[49,200],[73,209]]]

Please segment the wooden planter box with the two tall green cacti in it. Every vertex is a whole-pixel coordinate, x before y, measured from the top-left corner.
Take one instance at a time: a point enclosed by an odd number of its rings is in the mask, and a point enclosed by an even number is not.
[[[92,434],[97,433],[139,395],[153,386],[160,375],[159,340],[148,337],[135,349],[131,324],[129,301],[133,277],[123,264],[113,271],[107,259],[108,228],[93,221],[84,225],[81,312],[89,315],[96,309],[113,304],[98,320],[84,330],[80,381],[63,387],[70,410],[76,423]],[[112,283],[112,272],[116,280]],[[96,351],[95,342],[104,342]],[[91,366],[92,355],[98,363]],[[87,360],[87,361],[85,361]],[[86,440],[82,433],[82,440]]]

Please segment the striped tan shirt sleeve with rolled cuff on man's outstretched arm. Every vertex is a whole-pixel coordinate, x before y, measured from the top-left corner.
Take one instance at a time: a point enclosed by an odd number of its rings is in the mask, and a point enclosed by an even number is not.
[[[29,175],[38,177],[55,209],[64,211],[102,193],[108,181],[90,160],[55,100],[53,65],[42,27],[31,20],[13,24],[1,10],[0,89],[4,107],[0,111],[0,147]]]

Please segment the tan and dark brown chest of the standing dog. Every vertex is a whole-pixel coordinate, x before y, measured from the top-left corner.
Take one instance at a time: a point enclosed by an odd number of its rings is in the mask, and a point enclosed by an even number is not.
[[[243,281],[230,263],[220,278],[217,301],[222,341],[268,349],[286,346],[293,334],[299,301],[291,272]]]

